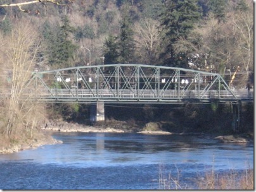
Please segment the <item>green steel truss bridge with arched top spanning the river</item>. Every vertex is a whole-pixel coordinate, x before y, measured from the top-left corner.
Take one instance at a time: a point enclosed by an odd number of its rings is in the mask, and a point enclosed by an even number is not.
[[[221,75],[144,64],[79,66],[34,72],[24,95],[42,102],[236,102],[253,100]],[[253,94],[253,93],[252,93]]]

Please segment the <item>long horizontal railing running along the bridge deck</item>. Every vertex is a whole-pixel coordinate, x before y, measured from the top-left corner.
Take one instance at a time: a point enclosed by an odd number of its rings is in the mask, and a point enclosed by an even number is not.
[[[253,100],[253,90],[234,90],[236,99],[227,90],[112,90],[112,89],[37,89],[25,90],[23,99],[44,102],[212,102],[212,100]],[[1,97],[10,97],[10,92],[1,92]]]

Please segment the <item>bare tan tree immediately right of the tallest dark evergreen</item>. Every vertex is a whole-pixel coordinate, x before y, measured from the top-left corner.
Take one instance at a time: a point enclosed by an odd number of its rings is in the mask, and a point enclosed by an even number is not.
[[[176,54],[184,52],[192,68],[219,72],[219,63],[224,63],[224,60],[227,63],[227,60],[222,54],[222,47],[217,44],[226,35],[222,34],[222,25],[214,15],[209,15],[208,20],[195,27],[186,39],[180,37],[176,41],[174,51]]]

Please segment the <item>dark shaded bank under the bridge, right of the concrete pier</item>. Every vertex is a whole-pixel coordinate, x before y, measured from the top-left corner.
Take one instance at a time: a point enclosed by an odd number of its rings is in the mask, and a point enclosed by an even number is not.
[[[123,110],[122,110],[123,109]],[[105,118],[132,122],[147,131],[200,133],[211,135],[244,134],[253,137],[253,104],[243,104],[240,127],[233,129],[232,104],[105,104]],[[135,122],[135,123],[134,123]],[[109,123],[108,123],[109,124]]]

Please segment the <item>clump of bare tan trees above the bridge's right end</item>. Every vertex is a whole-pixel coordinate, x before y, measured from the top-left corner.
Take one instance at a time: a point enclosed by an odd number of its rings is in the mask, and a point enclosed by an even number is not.
[[[226,80],[235,78],[236,87],[243,87],[253,69],[253,4],[247,3],[246,11],[231,8],[225,22],[209,15],[186,39],[176,42],[175,51],[188,57],[198,54],[198,69],[223,73]]]

